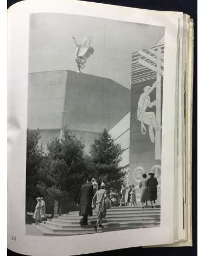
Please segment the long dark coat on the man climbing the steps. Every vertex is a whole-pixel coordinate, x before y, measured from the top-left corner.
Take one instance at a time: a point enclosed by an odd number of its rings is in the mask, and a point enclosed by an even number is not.
[[[81,186],[80,193],[78,196],[79,203],[79,215],[93,215],[92,209],[92,200],[93,200],[94,192],[93,185],[91,182],[88,182]]]

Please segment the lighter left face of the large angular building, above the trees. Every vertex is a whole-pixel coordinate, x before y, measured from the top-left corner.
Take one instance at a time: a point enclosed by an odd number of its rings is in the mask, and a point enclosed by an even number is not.
[[[61,129],[67,71],[28,76],[28,128]]]

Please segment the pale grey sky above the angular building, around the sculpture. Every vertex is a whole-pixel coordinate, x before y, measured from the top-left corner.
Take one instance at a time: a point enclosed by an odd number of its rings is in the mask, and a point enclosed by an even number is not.
[[[91,35],[94,54],[83,73],[110,78],[130,88],[133,52],[150,48],[164,35],[164,27],[80,15],[30,15],[29,73],[76,71],[76,46]]]

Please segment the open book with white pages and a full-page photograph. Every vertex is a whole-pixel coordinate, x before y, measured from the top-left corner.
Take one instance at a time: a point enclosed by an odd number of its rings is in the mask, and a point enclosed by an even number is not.
[[[191,246],[189,15],[27,0],[8,44],[9,249]]]

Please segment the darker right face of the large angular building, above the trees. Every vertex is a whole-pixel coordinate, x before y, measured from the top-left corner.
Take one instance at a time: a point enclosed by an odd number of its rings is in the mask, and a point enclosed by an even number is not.
[[[64,123],[72,130],[110,129],[130,110],[130,89],[111,79],[68,71]]]

